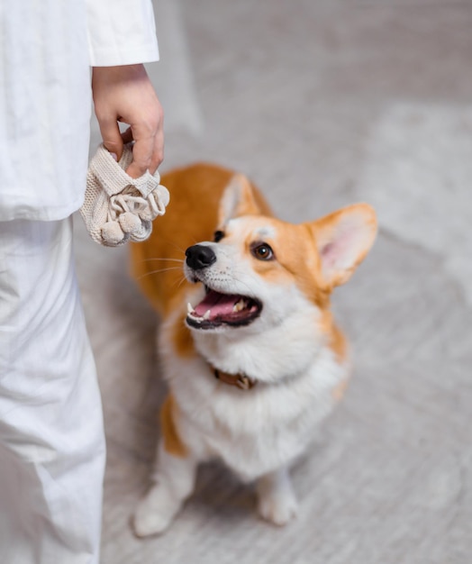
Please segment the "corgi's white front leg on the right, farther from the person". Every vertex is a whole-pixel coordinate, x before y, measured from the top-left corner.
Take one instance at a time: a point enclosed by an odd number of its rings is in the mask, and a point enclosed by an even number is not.
[[[259,478],[257,483],[259,514],[276,525],[285,525],[295,517],[298,504],[287,468],[279,468]]]

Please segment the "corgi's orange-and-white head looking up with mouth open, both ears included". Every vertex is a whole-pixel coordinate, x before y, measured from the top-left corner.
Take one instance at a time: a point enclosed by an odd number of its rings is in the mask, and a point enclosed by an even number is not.
[[[299,225],[262,215],[249,181],[236,175],[214,240],[186,250],[186,278],[205,288],[203,300],[188,305],[186,323],[198,332],[259,332],[316,315],[366,257],[376,232],[366,204]]]

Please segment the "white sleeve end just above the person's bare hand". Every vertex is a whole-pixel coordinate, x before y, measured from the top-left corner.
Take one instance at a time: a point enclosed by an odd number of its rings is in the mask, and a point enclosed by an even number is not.
[[[159,60],[151,0],[86,0],[91,67]]]

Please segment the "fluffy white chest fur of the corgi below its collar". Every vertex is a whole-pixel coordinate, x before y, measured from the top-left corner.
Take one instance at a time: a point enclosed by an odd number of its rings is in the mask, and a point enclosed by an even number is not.
[[[310,353],[304,348],[304,362],[292,362],[293,371],[285,370],[277,382],[241,390],[214,378],[200,356],[179,357],[165,329],[159,350],[177,400],[182,439],[198,459],[218,457],[245,480],[289,464],[304,452],[316,424],[335,403],[333,390],[348,376],[331,349],[312,343]],[[279,349],[268,364],[285,367],[292,353]],[[251,376],[264,379],[262,373]]]

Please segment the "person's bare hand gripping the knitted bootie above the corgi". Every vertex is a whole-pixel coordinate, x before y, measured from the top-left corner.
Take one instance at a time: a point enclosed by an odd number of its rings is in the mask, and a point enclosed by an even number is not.
[[[123,143],[135,141],[126,173],[154,174],[164,159],[164,114],[144,66],[94,67],[92,92],[104,147],[119,160]],[[130,128],[121,133],[118,122]]]

